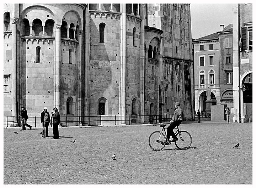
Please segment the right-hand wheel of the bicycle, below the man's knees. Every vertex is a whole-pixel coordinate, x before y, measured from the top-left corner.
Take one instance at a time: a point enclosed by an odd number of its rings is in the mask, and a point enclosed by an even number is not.
[[[175,145],[178,149],[187,149],[192,144],[192,137],[187,131],[180,131],[177,133],[178,141],[175,141]],[[178,137],[179,136],[179,137]]]

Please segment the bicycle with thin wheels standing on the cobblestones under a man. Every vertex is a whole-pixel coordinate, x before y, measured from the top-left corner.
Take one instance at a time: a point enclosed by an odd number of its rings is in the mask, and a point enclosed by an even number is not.
[[[155,151],[160,151],[162,150],[165,145],[166,145],[166,132],[165,132],[165,126],[167,124],[162,124],[160,125],[160,127],[162,127],[162,131],[155,131],[153,133],[151,133],[151,135],[149,136],[149,146],[151,149],[155,150]],[[181,124],[180,124],[181,125]],[[188,149],[191,144],[192,144],[192,137],[190,135],[190,133],[188,133],[187,131],[181,131],[178,127],[180,126],[176,126],[174,129],[177,129],[177,131],[175,132],[175,135],[178,136],[179,138],[177,141],[175,141],[175,146],[178,149],[184,150],[184,149]],[[171,145],[171,142],[169,142]]]

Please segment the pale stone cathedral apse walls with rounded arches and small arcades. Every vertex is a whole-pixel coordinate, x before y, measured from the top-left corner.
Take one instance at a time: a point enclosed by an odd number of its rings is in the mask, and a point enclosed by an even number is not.
[[[192,120],[193,91],[190,4],[4,4],[4,121],[25,106],[138,124],[176,101]]]

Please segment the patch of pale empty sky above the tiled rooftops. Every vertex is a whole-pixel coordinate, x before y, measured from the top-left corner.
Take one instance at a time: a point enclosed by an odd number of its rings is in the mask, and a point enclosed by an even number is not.
[[[218,32],[220,25],[225,27],[232,23],[233,4],[193,4],[191,10],[192,38]],[[200,36],[201,35],[201,36]]]

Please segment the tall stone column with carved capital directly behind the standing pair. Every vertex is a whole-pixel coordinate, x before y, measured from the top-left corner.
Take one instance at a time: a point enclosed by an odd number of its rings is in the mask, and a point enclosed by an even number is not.
[[[55,30],[55,107],[60,110],[60,27],[56,24]]]

